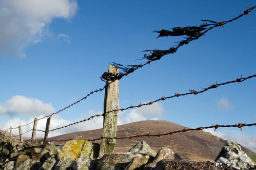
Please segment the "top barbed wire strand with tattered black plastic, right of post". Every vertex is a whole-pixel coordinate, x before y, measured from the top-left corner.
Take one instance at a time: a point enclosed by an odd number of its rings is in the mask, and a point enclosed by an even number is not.
[[[181,40],[179,41],[177,46],[173,46],[171,48],[169,48],[169,50],[145,50],[142,52],[150,52],[151,54],[144,54],[144,57],[142,59],[146,59],[147,62],[145,62],[144,64],[140,64],[140,65],[121,65],[118,63],[111,63],[112,65],[116,66],[117,68],[119,68],[120,70],[122,70],[122,72],[118,73],[118,74],[113,74],[113,73],[108,73],[108,72],[104,72],[101,76],[101,80],[102,81],[115,81],[115,80],[120,80],[122,77],[127,76],[128,74],[134,72],[135,70],[137,70],[138,68],[142,68],[146,65],[149,65],[151,62],[156,61],[156,60],[160,60],[163,56],[167,55],[167,54],[173,54],[175,53],[179,47],[185,45],[185,44],[189,44],[191,41],[193,40],[197,40],[199,37],[201,37],[202,35],[206,34],[208,31],[212,30],[213,28],[216,27],[223,27],[225,24],[232,22],[244,15],[249,15],[249,13],[254,10],[256,8],[256,6],[248,8],[247,10],[245,10],[242,14],[240,14],[239,16],[230,19],[228,21],[221,21],[221,22],[216,22],[213,20],[201,20],[203,22],[208,22],[208,23],[204,23],[200,26],[188,26],[188,27],[175,27],[172,29],[172,31],[168,31],[168,30],[161,30],[161,31],[154,31],[157,32],[159,35],[158,37],[161,36],[180,36],[180,35],[187,35],[187,37],[184,37],[185,40]],[[157,38],[158,38],[157,37]]]

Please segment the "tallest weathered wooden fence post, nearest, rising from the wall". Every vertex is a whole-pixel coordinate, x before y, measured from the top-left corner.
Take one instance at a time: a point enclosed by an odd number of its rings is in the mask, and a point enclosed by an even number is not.
[[[108,72],[112,74],[118,74],[119,70],[113,65],[109,65]],[[119,80],[114,82],[107,81],[105,88],[104,98],[104,122],[102,130],[102,139],[100,144],[99,156],[102,157],[105,153],[112,153],[116,145],[117,134],[117,122],[118,122],[118,111],[119,108]],[[111,139],[109,139],[111,138]]]

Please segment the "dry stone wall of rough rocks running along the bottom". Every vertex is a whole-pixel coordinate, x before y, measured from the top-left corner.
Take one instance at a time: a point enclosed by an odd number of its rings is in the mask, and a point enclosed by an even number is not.
[[[98,157],[100,145],[85,140],[70,140],[63,145],[51,142],[20,143],[0,137],[1,170],[249,170],[254,162],[239,145],[228,141],[215,161],[191,162],[169,148],[157,153],[140,141],[127,153],[108,153]]]

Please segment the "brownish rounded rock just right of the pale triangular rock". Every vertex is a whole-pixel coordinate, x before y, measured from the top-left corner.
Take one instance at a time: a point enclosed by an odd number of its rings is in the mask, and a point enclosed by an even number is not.
[[[144,170],[152,170],[159,161],[163,160],[163,159],[174,159],[174,160],[180,160],[181,157],[177,154],[174,153],[171,149],[169,148],[161,148],[155,159],[153,160],[153,162],[145,165]]]

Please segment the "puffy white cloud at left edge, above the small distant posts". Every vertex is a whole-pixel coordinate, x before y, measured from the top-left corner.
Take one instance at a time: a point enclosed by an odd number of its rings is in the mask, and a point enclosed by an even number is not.
[[[48,115],[55,112],[51,103],[43,103],[39,99],[16,95],[0,104],[0,115]]]

